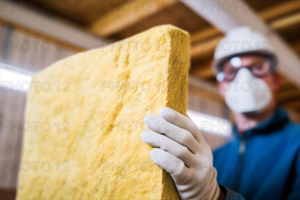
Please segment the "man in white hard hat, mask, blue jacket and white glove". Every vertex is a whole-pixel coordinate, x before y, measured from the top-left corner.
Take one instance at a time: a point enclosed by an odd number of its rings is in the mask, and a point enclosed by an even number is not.
[[[152,161],[170,173],[181,199],[300,199],[300,126],[276,106],[280,78],[267,37],[235,28],[213,63],[234,136],[211,152],[190,118],[162,107],[145,116],[150,130],[141,133],[155,147]]]

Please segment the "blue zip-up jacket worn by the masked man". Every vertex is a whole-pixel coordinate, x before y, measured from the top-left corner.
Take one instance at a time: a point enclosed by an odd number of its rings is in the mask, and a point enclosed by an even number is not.
[[[246,125],[245,125],[246,127]],[[300,125],[282,108],[213,152],[226,199],[300,199]],[[231,190],[237,192],[232,192]]]

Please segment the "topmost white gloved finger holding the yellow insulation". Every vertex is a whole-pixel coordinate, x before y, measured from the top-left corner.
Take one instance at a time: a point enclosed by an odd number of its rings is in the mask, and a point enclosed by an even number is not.
[[[180,114],[179,112],[169,107],[161,107],[159,109],[159,115],[165,120],[175,124],[176,126],[188,130],[199,143],[201,142],[202,135],[199,134],[198,127],[187,116],[184,116],[183,114]]]

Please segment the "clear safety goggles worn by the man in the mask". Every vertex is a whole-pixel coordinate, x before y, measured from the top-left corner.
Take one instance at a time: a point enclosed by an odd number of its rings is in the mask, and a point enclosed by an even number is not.
[[[272,60],[264,55],[234,56],[222,62],[216,79],[218,81],[232,81],[237,71],[242,67],[248,68],[256,77],[271,74],[274,69]]]

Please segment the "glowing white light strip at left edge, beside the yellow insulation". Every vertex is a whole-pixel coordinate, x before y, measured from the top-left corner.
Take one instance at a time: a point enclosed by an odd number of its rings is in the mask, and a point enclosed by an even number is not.
[[[1,91],[29,91],[32,71],[0,62]]]

